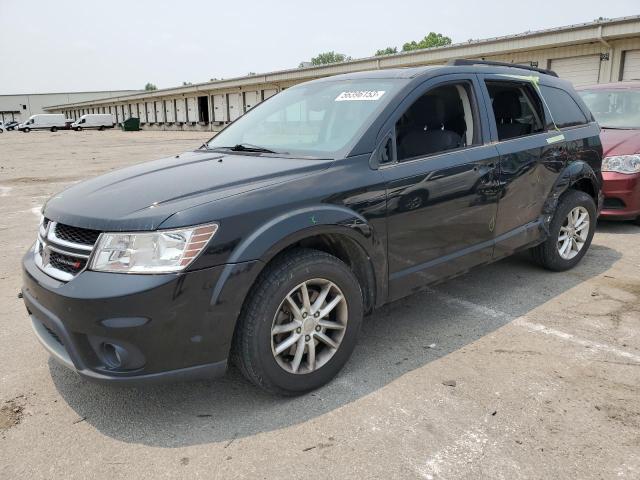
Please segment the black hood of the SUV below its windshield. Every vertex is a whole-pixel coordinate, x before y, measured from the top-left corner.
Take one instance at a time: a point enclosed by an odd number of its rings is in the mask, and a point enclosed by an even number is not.
[[[52,197],[44,215],[94,230],[155,230],[184,209],[289,182],[331,162],[187,152],[78,183]]]

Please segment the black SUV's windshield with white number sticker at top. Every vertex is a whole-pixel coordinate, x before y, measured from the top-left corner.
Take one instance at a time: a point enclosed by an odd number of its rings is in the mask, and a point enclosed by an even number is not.
[[[397,79],[361,79],[292,87],[254,107],[207,145],[335,158],[403,84]]]

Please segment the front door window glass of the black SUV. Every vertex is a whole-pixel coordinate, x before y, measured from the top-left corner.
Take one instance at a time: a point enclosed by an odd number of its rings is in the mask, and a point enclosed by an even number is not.
[[[467,82],[447,84],[416,100],[396,123],[398,161],[434,155],[479,141]]]

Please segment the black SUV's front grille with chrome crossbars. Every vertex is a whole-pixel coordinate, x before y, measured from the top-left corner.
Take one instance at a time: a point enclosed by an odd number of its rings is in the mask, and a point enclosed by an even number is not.
[[[68,282],[85,269],[99,236],[97,230],[45,218],[34,251],[36,265],[47,275]]]

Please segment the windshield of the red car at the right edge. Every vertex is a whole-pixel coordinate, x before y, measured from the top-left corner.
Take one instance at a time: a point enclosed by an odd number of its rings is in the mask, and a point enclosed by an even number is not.
[[[578,93],[602,128],[640,128],[640,91],[612,89]]]

